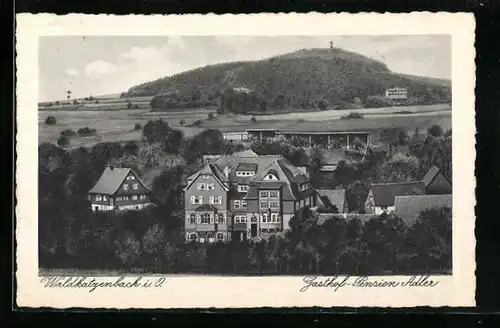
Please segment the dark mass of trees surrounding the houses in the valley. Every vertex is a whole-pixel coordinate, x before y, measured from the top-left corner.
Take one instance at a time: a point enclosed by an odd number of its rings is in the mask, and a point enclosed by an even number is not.
[[[358,219],[336,217],[318,224],[310,208],[298,211],[290,230],[260,242],[185,243],[182,188],[198,170],[201,154],[241,150],[217,130],[192,138],[162,120],[143,127],[141,143],[101,143],[91,149],[39,146],[39,265],[41,268],[113,269],[135,272],[212,274],[382,274],[449,273],[451,211],[435,208],[420,214],[411,227],[393,215]],[[389,150],[370,150],[363,160],[339,165],[331,180],[316,179],[321,188],[347,189],[350,211],[362,208],[372,181],[420,179],[431,165],[451,172],[451,131],[435,126],[409,154],[401,131],[387,130]],[[305,156],[300,145],[254,143],[259,154],[282,154],[298,165],[309,162],[313,179],[321,159]],[[166,165],[162,154],[182,164]],[[416,160],[415,160],[416,159]],[[87,192],[106,165],[134,168],[139,175],[161,167],[151,184],[154,206],[141,211],[92,213]]]

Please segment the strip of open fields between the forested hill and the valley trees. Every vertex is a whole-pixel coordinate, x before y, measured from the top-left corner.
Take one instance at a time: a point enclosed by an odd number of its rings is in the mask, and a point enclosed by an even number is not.
[[[390,107],[367,110],[356,110],[364,113],[362,119],[341,120],[340,117],[355,112],[349,111],[322,111],[311,113],[289,113],[274,116],[256,117],[256,122],[251,123],[251,116],[225,114],[215,116],[215,119],[208,121],[208,113],[215,114],[215,108],[200,108],[194,110],[179,110],[170,112],[151,112],[146,109],[126,109],[126,110],[78,110],[78,111],[39,111],[39,143],[55,143],[61,131],[66,129],[78,130],[83,127],[90,127],[97,130],[96,136],[75,137],[70,141],[72,148],[80,146],[92,146],[98,142],[126,142],[129,140],[140,140],[141,131],[134,131],[134,124],[139,123],[144,126],[149,120],[162,118],[174,128],[183,131],[186,137],[193,136],[204,129],[214,128],[221,132],[240,132],[248,128],[281,128],[285,125],[297,123],[299,121],[311,122],[311,126],[319,121],[332,126],[335,130],[367,130],[376,133],[383,128],[394,126],[406,129],[411,132],[418,127],[421,131],[433,124],[440,125],[443,129],[451,128],[451,110],[446,106],[425,106],[425,107]],[[401,112],[395,114],[395,112]],[[407,112],[411,111],[412,114]],[[297,116],[298,114],[303,114]],[[46,125],[45,119],[52,115],[57,119],[57,124]],[[298,117],[298,118],[297,118]],[[321,118],[321,119],[320,119]],[[182,126],[180,121],[184,120]],[[197,120],[202,120],[200,126],[187,126]]]

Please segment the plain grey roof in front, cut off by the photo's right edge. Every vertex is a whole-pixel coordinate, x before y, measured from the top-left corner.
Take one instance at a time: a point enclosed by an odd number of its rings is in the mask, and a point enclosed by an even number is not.
[[[394,212],[405,224],[412,225],[425,209],[444,206],[452,208],[452,198],[452,195],[397,196]]]

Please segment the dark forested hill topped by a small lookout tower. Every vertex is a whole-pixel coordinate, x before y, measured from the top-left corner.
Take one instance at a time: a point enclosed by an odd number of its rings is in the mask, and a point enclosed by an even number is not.
[[[158,96],[154,108],[220,105],[243,93],[248,106],[229,111],[357,104],[408,88],[413,103],[448,102],[451,82],[391,72],[386,64],[342,49],[302,49],[252,62],[205,66],[130,88],[122,97]],[[243,90],[243,92],[241,92]],[[236,91],[236,92],[235,92]],[[229,94],[228,94],[229,92]],[[237,101],[236,101],[237,102]]]

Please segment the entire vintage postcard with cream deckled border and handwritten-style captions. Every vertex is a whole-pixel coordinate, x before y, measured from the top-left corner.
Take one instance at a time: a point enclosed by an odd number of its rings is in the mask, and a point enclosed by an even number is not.
[[[473,306],[474,30],[18,15],[17,305]]]

